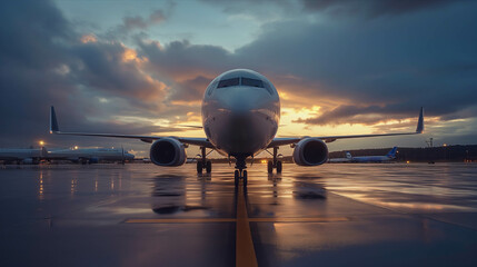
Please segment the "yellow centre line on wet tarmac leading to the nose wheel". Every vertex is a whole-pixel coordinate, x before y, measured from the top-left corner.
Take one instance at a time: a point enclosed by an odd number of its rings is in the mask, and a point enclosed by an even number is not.
[[[258,266],[257,255],[255,254],[254,248],[254,240],[251,238],[250,224],[247,215],[242,180],[240,180],[238,187],[236,228],[236,267]]]

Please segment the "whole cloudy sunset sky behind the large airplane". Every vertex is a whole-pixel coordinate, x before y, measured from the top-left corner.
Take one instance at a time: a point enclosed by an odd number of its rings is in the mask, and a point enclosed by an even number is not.
[[[182,126],[201,125],[206,87],[237,68],[277,87],[279,137],[413,131],[424,107],[425,135],[329,150],[477,144],[477,1],[0,4],[0,147],[149,152],[136,140],[51,136],[50,106],[64,131],[205,137]]]

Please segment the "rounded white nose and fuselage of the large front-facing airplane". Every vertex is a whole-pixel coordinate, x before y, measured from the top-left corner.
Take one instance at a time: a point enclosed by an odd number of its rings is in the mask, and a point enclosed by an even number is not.
[[[280,99],[262,75],[236,69],[210,82],[202,100],[202,126],[216,150],[231,157],[255,156],[277,134]]]

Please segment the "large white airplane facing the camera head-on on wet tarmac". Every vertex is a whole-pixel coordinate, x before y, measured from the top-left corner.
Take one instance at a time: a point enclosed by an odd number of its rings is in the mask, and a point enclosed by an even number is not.
[[[207,87],[201,107],[205,138],[137,136],[119,134],[64,132],[58,127],[54,107],[50,109],[50,134],[138,139],[152,144],[150,159],[158,166],[181,166],[186,162],[186,148],[200,147],[199,174],[210,172],[207,149],[236,159],[235,182],[241,179],[247,186],[246,159],[266,149],[274,149],[268,171],[281,172],[277,160],[280,146],[294,148],[292,158],[299,166],[319,166],[328,160],[327,142],[338,139],[417,135],[424,131],[424,109],[420,108],[416,131],[378,135],[276,137],[280,120],[280,98],[275,86],[265,76],[248,69],[235,69],[216,77]]]

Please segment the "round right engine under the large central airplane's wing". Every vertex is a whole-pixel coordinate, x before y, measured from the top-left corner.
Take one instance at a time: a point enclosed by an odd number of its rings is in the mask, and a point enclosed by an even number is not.
[[[305,138],[295,146],[294,161],[299,166],[318,166],[328,160],[328,146],[318,138]]]

